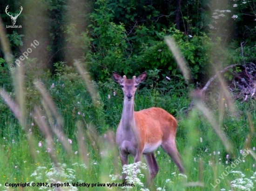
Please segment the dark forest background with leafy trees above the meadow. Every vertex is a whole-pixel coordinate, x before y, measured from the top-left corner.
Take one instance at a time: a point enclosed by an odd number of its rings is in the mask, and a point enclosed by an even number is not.
[[[255,60],[254,0],[2,0],[4,26],[12,25],[7,5],[10,13],[19,13],[23,6],[16,21],[22,28],[5,27],[14,58],[36,39],[40,46],[24,62],[51,73],[54,64],[70,66],[75,58],[86,63],[96,81],[105,82],[114,70],[128,76],[157,70],[180,81],[180,71],[163,42],[167,35],[175,38],[188,61],[194,84],[204,84],[216,69]],[[30,32],[24,32],[26,28]],[[0,57],[5,67],[3,52]],[[231,72],[225,76],[232,79]]]

